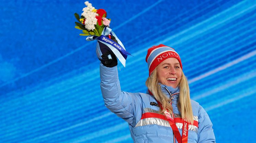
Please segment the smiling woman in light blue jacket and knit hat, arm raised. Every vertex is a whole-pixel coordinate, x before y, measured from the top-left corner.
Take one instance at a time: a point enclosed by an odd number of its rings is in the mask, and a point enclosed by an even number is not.
[[[117,60],[107,47],[101,43],[99,46],[101,52],[97,55],[102,61],[100,76],[105,105],[127,121],[134,142],[215,142],[208,114],[190,100],[182,62],[173,48],[160,44],[148,49],[146,86],[149,90],[145,94],[121,91]],[[109,54],[112,60],[106,58]]]

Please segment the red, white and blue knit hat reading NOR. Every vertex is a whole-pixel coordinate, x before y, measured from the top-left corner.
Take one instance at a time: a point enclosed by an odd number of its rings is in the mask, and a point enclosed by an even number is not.
[[[179,61],[182,69],[181,58],[173,48],[163,44],[149,48],[148,54],[146,56],[146,62],[148,63],[149,68],[149,76],[162,61],[168,58],[176,58]]]

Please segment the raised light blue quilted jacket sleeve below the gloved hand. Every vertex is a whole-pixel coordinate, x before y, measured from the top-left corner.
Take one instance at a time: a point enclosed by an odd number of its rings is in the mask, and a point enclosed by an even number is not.
[[[121,91],[117,67],[108,68],[100,64],[100,77],[105,106],[133,125],[135,112],[142,110],[142,100],[139,93]]]

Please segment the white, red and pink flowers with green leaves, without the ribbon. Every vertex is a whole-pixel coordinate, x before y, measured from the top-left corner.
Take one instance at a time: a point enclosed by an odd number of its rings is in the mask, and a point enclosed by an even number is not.
[[[102,35],[102,31],[106,26],[109,26],[110,20],[107,19],[107,13],[104,9],[96,10],[91,3],[88,1],[84,2],[87,6],[83,8],[83,13],[81,17],[75,13],[75,18],[78,22],[75,22],[75,28],[83,30],[82,36],[88,35]]]

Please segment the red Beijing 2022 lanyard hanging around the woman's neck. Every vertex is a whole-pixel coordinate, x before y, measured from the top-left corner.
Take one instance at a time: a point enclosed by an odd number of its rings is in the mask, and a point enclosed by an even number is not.
[[[163,110],[163,107],[162,107],[161,103],[158,102],[158,104],[160,105],[161,109]],[[187,122],[186,118],[183,120],[182,136],[181,136],[181,134],[179,133],[179,130],[176,126],[175,118],[173,116],[173,112],[171,112],[171,114],[170,114],[168,112],[168,110],[166,110],[164,112],[164,114],[165,114],[165,116],[166,116],[172,130],[173,130],[173,133],[174,133],[175,138],[178,141],[178,143],[187,143],[188,142],[188,122]]]

